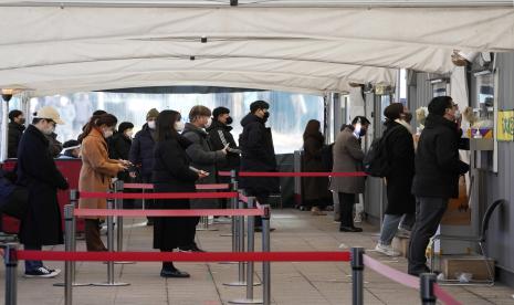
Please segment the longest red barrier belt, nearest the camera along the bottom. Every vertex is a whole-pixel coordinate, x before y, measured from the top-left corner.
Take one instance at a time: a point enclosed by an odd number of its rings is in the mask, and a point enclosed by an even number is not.
[[[65,252],[18,251],[19,260],[75,262],[348,262],[349,252]]]

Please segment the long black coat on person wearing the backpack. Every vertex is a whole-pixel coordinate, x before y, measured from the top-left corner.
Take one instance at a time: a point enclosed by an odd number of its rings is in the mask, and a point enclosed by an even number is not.
[[[407,127],[386,123],[386,151],[389,161],[387,179],[387,214],[413,213],[416,199],[411,192],[415,177],[415,143]]]

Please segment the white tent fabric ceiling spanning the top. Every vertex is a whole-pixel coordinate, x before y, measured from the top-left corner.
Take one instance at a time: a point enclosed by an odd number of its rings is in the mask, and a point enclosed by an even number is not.
[[[0,87],[34,95],[153,85],[322,94],[392,84],[399,67],[450,72],[453,49],[514,50],[513,8],[2,7],[0,20]]]

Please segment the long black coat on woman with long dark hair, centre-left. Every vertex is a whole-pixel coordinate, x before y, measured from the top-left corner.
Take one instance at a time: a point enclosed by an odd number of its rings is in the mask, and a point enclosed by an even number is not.
[[[153,183],[156,192],[196,192],[198,175],[189,169],[186,149],[191,143],[178,136],[156,144]],[[189,209],[189,199],[156,200],[155,209]],[[188,245],[195,234],[193,218],[156,218],[154,221],[154,248],[171,251]]]

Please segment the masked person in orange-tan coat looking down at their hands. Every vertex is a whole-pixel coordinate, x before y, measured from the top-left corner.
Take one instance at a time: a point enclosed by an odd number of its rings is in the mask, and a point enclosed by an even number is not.
[[[113,136],[117,118],[112,114],[91,117],[87,128],[78,136],[82,141],[82,168],[78,177],[78,191],[106,192],[111,179],[125,170],[129,164],[108,157],[107,138]],[[78,200],[81,209],[105,209],[105,199]],[[99,238],[98,217],[85,217],[85,240],[87,251],[106,251]]]

